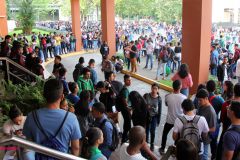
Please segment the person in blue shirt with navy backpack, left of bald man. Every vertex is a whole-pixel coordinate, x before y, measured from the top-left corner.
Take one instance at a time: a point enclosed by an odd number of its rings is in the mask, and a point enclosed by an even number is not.
[[[112,152],[118,147],[119,133],[115,124],[105,115],[105,106],[101,102],[94,103],[92,115],[95,118],[94,126],[103,132],[103,143],[99,146],[103,155],[109,158]]]

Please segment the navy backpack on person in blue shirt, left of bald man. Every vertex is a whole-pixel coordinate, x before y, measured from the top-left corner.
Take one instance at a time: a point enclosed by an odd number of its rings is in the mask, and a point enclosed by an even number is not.
[[[120,137],[119,137],[119,132],[117,129],[116,124],[111,120],[111,119],[104,119],[102,123],[100,124],[99,128],[103,130],[103,127],[105,126],[106,122],[110,122],[113,126],[113,131],[112,131],[112,144],[109,146],[109,149],[111,151],[115,151],[119,145],[120,142]]]

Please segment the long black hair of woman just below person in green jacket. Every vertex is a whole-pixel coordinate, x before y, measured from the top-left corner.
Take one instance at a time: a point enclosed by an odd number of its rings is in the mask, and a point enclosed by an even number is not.
[[[90,99],[90,93],[88,90],[83,90],[80,93],[80,100],[74,105],[75,108],[75,114],[81,115],[83,117],[87,117],[90,113],[89,110],[89,99]]]

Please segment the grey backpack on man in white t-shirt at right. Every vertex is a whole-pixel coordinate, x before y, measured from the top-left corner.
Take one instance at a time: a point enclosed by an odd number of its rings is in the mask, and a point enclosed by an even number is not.
[[[188,121],[184,116],[179,117],[179,119],[183,123],[183,129],[180,137],[191,141],[199,152],[201,149],[201,138],[197,123],[200,116],[196,115],[191,121]]]

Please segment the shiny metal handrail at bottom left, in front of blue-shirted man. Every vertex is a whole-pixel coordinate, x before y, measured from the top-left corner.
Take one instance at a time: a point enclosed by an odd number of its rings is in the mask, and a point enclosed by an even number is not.
[[[63,152],[60,152],[60,151],[57,151],[57,150],[54,150],[54,149],[51,149],[51,148],[47,148],[47,147],[41,146],[37,143],[31,142],[31,141],[28,141],[26,139],[16,137],[16,136],[9,136],[6,139],[1,140],[0,141],[0,146],[3,146],[3,145],[16,145],[16,146],[26,148],[26,149],[30,149],[30,150],[33,150],[35,152],[42,153],[42,154],[45,154],[45,155],[48,155],[48,156],[51,156],[51,157],[54,157],[54,158],[58,158],[58,159],[85,160],[83,158],[76,157],[74,155],[70,155],[70,154],[67,154],[67,153],[63,153]]]

